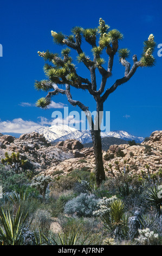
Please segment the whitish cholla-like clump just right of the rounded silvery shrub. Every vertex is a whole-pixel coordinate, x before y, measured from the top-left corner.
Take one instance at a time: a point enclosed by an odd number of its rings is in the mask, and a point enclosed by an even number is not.
[[[113,196],[111,198],[107,198],[107,197],[103,197],[99,203],[98,206],[100,207],[99,210],[94,211],[93,215],[98,216],[98,217],[102,217],[105,214],[109,214],[110,210],[111,210],[111,204],[117,200],[116,196]]]

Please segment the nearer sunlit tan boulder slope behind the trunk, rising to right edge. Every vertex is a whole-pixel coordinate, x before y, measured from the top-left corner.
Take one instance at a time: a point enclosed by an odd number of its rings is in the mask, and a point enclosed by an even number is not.
[[[46,174],[55,175],[62,171],[66,174],[74,169],[83,168],[93,172],[95,170],[95,159],[93,148],[83,148],[80,153],[85,157],[80,159],[67,159],[51,167]],[[152,133],[147,142],[138,145],[111,145],[107,151],[103,151],[103,162],[106,175],[118,175],[119,173],[130,173],[145,175],[159,172],[162,168],[162,131]]]

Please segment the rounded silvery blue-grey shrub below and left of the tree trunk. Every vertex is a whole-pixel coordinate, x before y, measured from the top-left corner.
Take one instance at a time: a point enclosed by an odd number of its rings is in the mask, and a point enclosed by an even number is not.
[[[81,193],[64,206],[64,213],[78,217],[91,217],[93,211],[98,209],[99,199],[94,194]]]

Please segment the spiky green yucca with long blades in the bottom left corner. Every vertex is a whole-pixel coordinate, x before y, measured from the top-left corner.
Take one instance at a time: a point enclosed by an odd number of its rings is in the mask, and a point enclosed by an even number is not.
[[[16,216],[13,217],[8,210],[6,213],[3,208],[0,209],[0,243],[1,245],[23,245],[22,227],[25,223],[28,213],[23,218],[21,206],[19,206]]]

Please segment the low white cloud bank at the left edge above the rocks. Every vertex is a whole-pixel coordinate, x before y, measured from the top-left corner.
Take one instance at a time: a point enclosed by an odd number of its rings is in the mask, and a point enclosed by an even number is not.
[[[41,126],[41,124],[35,123],[34,121],[16,118],[12,121],[0,121],[0,132],[28,133],[38,129]]]

